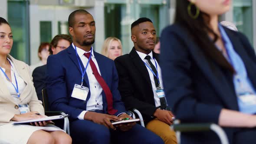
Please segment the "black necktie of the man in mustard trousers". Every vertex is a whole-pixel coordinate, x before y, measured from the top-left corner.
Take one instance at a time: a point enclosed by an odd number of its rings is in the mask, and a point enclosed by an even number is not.
[[[150,64],[150,67],[152,69],[152,71],[154,72],[155,75],[158,75],[158,71],[157,69],[154,67],[153,63],[151,62],[151,57],[150,56],[146,56],[145,59],[148,60],[148,63]],[[156,85],[157,90],[161,89],[159,82],[158,82],[158,78],[154,75],[154,84]],[[166,99],[165,97],[159,98],[160,99],[160,105],[161,105],[161,109],[165,109],[166,108]]]

